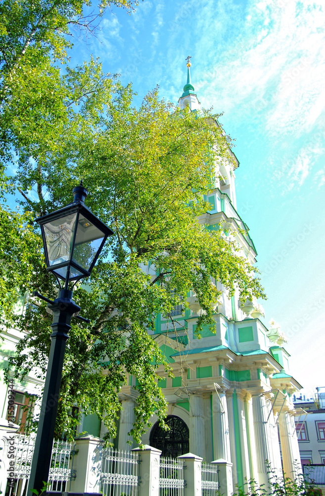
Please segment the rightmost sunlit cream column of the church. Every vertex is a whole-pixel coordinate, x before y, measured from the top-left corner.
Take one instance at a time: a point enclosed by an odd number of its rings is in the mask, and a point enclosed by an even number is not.
[[[279,432],[284,476],[296,480],[302,470],[295,422],[289,412],[280,414]]]

